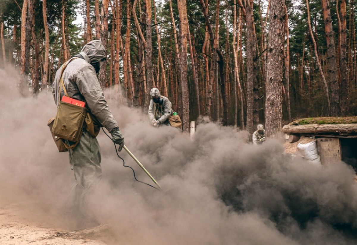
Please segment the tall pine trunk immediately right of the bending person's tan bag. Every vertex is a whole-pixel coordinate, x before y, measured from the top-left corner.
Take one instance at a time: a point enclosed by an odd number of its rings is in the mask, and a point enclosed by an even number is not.
[[[182,130],[190,130],[190,100],[188,98],[187,84],[187,41],[188,41],[188,20],[186,0],[177,0],[178,15],[180,17],[180,58],[178,68],[180,71],[180,90],[182,101]]]

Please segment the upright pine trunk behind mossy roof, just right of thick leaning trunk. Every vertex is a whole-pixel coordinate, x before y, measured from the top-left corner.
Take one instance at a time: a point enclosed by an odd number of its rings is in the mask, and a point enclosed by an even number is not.
[[[347,7],[346,0],[341,0],[341,31],[340,31],[340,74],[341,74],[341,87],[340,87],[340,107],[342,116],[347,114]]]

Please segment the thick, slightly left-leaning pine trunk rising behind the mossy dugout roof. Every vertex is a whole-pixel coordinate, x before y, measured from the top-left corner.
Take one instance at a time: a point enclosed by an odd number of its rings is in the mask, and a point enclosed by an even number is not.
[[[332,19],[330,13],[330,5],[328,0],[322,1],[323,19],[325,20],[325,35],[327,44],[327,65],[328,65],[328,79],[330,84],[331,93],[331,116],[340,115],[339,106],[339,86],[337,80],[337,61],[336,61],[336,49],[335,38],[333,37]]]

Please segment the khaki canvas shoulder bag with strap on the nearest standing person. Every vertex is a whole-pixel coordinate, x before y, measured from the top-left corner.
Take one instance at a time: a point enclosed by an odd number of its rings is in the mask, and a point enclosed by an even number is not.
[[[57,114],[52,126],[52,134],[61,139],[77,143],[82,135],[82,127],[86,117],[86,108],[61,101],[62,89],[64,90],[65,95],[69,97],[62,78],[63,72],[67,65],[75,58],[76,57],[71,58],[62,67],[58,90]],[[65,144],[67,148],[74,148],[76,145],[77,144],[68,146]]]

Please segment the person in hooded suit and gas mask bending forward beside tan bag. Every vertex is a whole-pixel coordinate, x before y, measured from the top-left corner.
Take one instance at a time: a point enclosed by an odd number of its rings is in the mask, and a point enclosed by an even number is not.
[[[170,125],[169,117],[172,116],[172,104],[165,96],[160,95],[157,88],[150,90],[151,100],[149,104],[149,119],[155,127]]]

